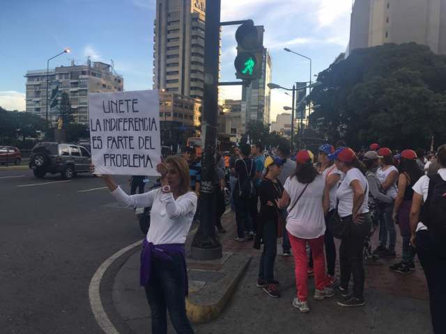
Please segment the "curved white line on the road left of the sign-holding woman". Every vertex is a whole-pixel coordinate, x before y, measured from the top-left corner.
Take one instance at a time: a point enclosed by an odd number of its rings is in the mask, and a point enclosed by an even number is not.
[[[100,300],[100,292],[99,292],[100,281],[102,280],[102,276],[104,276],[105,271],[107,271],[108,267],[110,267],[110,265],[118,257],[123,255],[125,252],[128,252],[128,250],[135,248],[137,246],[141,246],[141,240],[121,250],[118,250],[118,252],[114,253],[114,255],[109,257],[100,265],[98,270],[96,270],[95,274],[93,275],[93,278],[91,278],[89,286],[89,298],[90,298],[91,310],[93,311],[93,315],[95,316],[95,319],[98,322],[100,328],[102,328],[102,331],[104,331],[104,333],[106,334],[119,334],[119,332],[116,329],[116,327],[113,326],[112,321],[110,321],[109,317],[107,316],[107,313],[104,310],[104,307],[102,306],[102,301]]]

